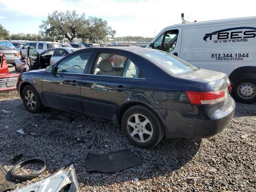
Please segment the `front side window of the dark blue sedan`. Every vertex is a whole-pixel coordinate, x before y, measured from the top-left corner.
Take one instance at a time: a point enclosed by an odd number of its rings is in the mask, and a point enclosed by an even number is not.
[[[88,64],[91,53],[92,52],[79,53],[66,58],[58,64],[57,72],[82,74]]]

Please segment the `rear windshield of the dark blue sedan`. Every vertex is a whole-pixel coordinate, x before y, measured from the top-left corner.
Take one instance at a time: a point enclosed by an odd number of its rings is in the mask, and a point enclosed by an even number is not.
[[[173,74],[191,72],[198,69],[191,63],[163,51],[136,50],[134,52],[151,60],[155,64],[159,64],[162,68],[169,70]]]

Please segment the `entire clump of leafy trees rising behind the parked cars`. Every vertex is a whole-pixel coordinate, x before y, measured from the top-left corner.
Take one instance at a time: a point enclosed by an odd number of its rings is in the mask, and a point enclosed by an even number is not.
[[[105,39],[107,35],[113,37],[116,34],[105,20],[96,17],[86,19],[84,13],[79,16],[76,11],[54,11],[39,28],[41,35],[58,39],[66,37],[70,41],[74,38]]]

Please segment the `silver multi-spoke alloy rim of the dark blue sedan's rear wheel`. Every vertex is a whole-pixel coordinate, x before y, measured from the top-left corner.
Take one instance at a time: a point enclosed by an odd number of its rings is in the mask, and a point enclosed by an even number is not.
[[[132,114],[128,118],[127,129],[130,136],[137,142],[147,142],[153,135],[153,127],[150,120],[142,114]]]

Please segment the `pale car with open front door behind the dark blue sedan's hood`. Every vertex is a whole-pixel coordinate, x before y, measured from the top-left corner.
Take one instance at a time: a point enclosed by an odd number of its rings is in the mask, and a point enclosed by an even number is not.
[[[15,60],[16,70],[29,71],[39,68],[43,69],[47,66],[54,65],[58,60],[76,50],[78,49],[73,47],[50,48],[39,54],[35,48],[28,47],[25,62]]]

